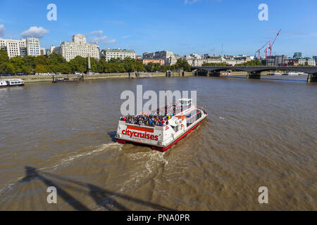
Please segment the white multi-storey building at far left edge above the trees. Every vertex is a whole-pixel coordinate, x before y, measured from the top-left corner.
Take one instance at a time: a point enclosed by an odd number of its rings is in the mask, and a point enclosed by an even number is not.
[[[21,40],[0,39],[0,49],[5,49],[9,58],[15,56],[40,56],[39,39],[33,37]]]

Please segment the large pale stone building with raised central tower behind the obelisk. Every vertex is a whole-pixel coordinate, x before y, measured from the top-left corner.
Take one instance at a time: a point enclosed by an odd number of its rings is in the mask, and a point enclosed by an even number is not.
[[[56,47],[54,52],[61,54],[67,61],[76,56],[87,57],[88,55],[97,60],[100,59],[100,50],[97,44],[87,43],[86,37],[82,34],[73,36],[73,41],[64,41],[61,46]]]

